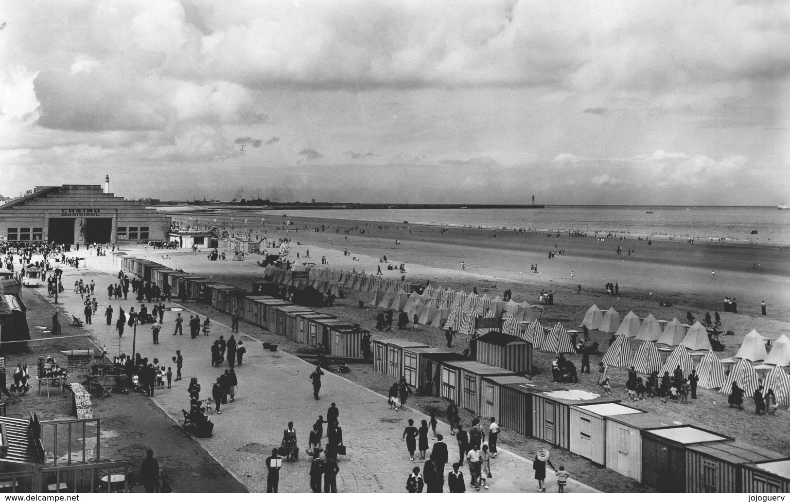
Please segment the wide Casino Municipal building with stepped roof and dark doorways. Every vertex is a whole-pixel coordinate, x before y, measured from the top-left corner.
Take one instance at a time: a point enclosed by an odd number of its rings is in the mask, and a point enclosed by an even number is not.
[[[36,187],[0,206],[0,239],[59,244],[165,241],[170,217],[110,193],[101,185]]]

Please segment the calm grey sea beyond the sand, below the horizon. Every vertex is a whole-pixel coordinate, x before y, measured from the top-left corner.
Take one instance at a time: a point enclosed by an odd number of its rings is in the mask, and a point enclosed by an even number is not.
[[[256,213],[483,228],[532,228],[790,244],[790,210],[776,206],[546,206],[545,209],[280,209]],[[753,233],[756,231],[757,233]]]

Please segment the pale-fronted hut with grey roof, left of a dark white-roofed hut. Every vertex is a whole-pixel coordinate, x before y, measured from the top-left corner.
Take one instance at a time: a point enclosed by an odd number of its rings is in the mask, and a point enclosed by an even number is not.
[[[606,466],[623,476],[642,481],[642,436],[656,429],[680,425],[654,413],[606,417]]]

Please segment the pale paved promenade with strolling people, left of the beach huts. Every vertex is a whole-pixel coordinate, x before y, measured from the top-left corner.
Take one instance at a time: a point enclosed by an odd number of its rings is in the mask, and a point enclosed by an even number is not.
[[[82,251],[81,255],[85,255]],[[119,307],[128,312],[130,307],[138,310],[133,293],[129,300],[111,300],[115,310],[113,325],[107,326],[103,316],[107,308],[107,285],[117,282],[119,266],[113,263],[113,257],[96,257],[88,255],[85,260],[87,268],[74,270],[64,269],[63,285],[66,293],[59,301],[62,310],[83,317],[82,300],[79,295],[71,293],[73,283],[80,278],[83,281],[96,282],[95,295],[100,307],[93,318],[92,325],[85,330],[99,346],[106,345],[108,355],[119,353],[119,338],[115,331],[115,319]],[[40,289],[46,295],[46,289]],[[177,349],[184,357],[183,379],[173,382],[171,389],[156,390],[154,401],[168,415],[182,422],[182,409],[189,406],[186,387],[190,377],[198,377],[201,383],[201,398],[211,393],[211,385],[225,369],[211,366],[211,345],[216,338],[223,335],[227,340],[231,336],[229,326],[212,321],[211,334],[191,339],[188,329],[190,315],[189,305],[166,303],[168,308],[184,308],[184,335],[171,335],[175,326],[175,312],[167,311],[160,332],[160,344],[153,345],[150,325],[137,326],[136,351],[149,361],[158,358],[160,364],[173,367],[175,380],[175,364],[171,357]],[[148,305],[149,311],[152,304]],[[201,316],[201,321],[203,317]],[[62,322],[66,322],[62,318]],[[200,439],[200,443],[210,454],[218,459],[232,474],[239,478],[252,492],[265,492],[265,458],[271,454],[273,447],[280,446],[284,428],[293,421],[299,437],[300,457],[298,462],[286,462],[280,471],[280,492],[309,492],[310,462],[304,453],[307,436],[318,415],[326,417],[330,403],[336,402],[340,409],[340,427],[343,428],[344,444],[348,447],[348,455],[340,456],[338,465],[340,473],[337,477],[337,488],[340,492],[404,492],[404,485],[413,466],[422,468],[423,462],[412,462],[408,459],[405,443],[401,440],[404,427],[409,418],[419,422],[427,419],[423,413],[415,410],[389,410],[387,400],[380,394],[348,381],[340,376],[325,372],[321,400],[315,401],[309,379],[313,366],[291,354],[281,351],[264,350],[254,338],[243,334],[245,324],[240,326],[241,333],[235,338],[242,339],[246,345],[243,366],[236,367],[239,379],[239,394],[236,401],[222,406],[222,414],[210,415],[214,422],[214,435],[208,439]],[[126,326],[126,332],[120,342],[120,352],[130,354],[132,351],[132,330]],[[128,399],[134,402],[137,396],[116,394],[111,399]],[[483,421],[487,422],[487,421]],[[448,443],[450,458],[457,455],[455,437],[450,436],[449,428],[439,423],[438,432],[445,436]],[[431,444],[434,439],[431,437]],[[430,450],[429,450],[430,453]],[[418,452],[419,455],[419,452]],[[488,492],[536,492],[536,481],[533,479],[531,459],[523,459],[506,451],[506,445],[500,447],[500,454],[491,461],[493,479]],[[468,480],[468,470],[465,470]],[[556,491],[554,473],[547,472],[547,491]],[[446,487],[445,487],[446,490]],[[589,486],[582,485],[571,479],[567,492],[594,492]],[[481,493],[486,493],[481,490]]]

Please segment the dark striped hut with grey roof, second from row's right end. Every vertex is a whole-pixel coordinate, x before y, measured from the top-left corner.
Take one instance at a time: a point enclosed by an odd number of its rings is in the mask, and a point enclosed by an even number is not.
[[[776,451],[740,440],[686,447],[687,493],[743,493],[743,466],[784,459]]]

